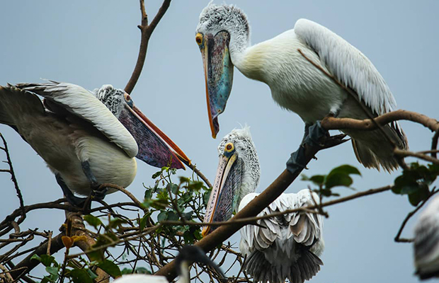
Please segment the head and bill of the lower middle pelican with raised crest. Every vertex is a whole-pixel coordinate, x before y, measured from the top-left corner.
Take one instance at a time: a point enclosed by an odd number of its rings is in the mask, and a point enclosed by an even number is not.
[[[218,154],[220,164],[207,203],[205,222],[230,219],[242,197],[256,190],[261,175],[249,127],[227,134],[218,146]],[[202,235],[206,236],[213,229],[204,226]]]

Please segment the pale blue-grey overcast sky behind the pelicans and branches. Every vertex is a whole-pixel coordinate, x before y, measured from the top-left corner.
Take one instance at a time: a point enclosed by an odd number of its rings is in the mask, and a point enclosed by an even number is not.
[[[158,0],[147,1],[150,20]],[[217,4],[222,1],[215,1]],[[231,2],[227,1],[228,4]],[[438,117],[439,1],[241,1],[251,42],[268,40],[293,28],[299,18],[316,21],[358,47],[380,71],[398,108]],[[227,110],[220,115],[220,133],[212,139],[207,119],[205,83],[195,27],[207,1],[173,1],[149,42],[147,61],[132,98],[137,106],[192,158],[210,180],[217,169],[217,144],[239,123],[251,126],[266,188],[285,168],[302,139],[303,122],[281,110],[269,88],[234,71]],[[139,3],[132,1],[1,1],[0,84],[38,82],[40,78],[76,83],[88,89],[110,83],[124,88],[135,66],[139,47]],[[401,122],[414,151],[428,149],[431,133]],[[49,202],[62,192],[42,159],[12,129],[6,137],[25,204]],[[396,174],[365,169],[350,143],[320,152],[307,175],[328,173],[341,164],[358,166],[362,178],[354,187],[366,190],[393,182]],[[2,156],[1,158],[4,159]],[[141,162],[141,161],[140,161]],[[156,168],[138,163],[129,189],[142,198],[142,183],[152,185]],[[116,166],[116,165],[115,165]],[[297,181],[287,192],[307,183]],[[18,207],[6,173],[0,174],[0,218]],[[342,195],[352,191],[340,188]],[[108,202],[120,201],[109,195]],[[324,222],[324,266],[311,282],[417,282],[411,245],[394,243],[401,221],[411,211],[406,197],[381,195],[329,207]],[[64,213],[29,216],[26,224],[57,231]],[[49,224],[52,224],[50,226]],[[403,233],[412,236],[413,221]],[[232,238],[239,241],[239,234]],[[1,253],[1,252],[0,252]]]

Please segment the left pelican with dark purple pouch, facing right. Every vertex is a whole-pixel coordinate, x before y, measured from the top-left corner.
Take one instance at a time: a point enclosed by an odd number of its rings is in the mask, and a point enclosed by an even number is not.
[[[135,157],[173,168],[184,168],[178,156],[189,160],[130,95],[110,85],[93,92],[55,81],[0,86],[0,122],[32,146],[67,200],[78,206],[84,199],[73,192],[88,196],[102,183],[130,185],[137,171]],[[108,189],[111,192],[115,189]]]

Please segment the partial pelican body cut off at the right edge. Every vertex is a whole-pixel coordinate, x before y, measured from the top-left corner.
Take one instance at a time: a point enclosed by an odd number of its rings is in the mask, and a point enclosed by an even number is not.
[[[415,224],[414,258],[420,279],[439,277],[439,197],[428,204]]]

